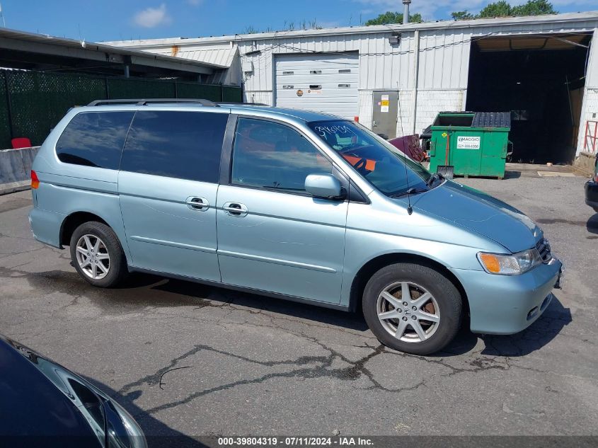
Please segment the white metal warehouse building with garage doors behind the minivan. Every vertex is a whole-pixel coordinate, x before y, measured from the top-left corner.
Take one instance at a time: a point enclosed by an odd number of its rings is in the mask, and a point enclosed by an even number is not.
[[[108,42],[208,62],[250,103],[320,110],[389,137],[444,110],[511,111],[514,161],[570,163],[598,120],[598,12]]]

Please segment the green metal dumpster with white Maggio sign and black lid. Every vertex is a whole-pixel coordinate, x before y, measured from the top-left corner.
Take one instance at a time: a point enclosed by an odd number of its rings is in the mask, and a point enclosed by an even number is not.
[[[430,141],[430,171],[454,166],[459,176],[505,177],[511,115],[487,112],[441,112]]]

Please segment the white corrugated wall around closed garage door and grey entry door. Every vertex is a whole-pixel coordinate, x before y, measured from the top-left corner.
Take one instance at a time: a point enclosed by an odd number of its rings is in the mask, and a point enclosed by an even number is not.
[[[414,114],[416,35],[403,33],[400,45],[391,45],[390,35],[389,31],[238,42],[241,63],[253,64],[253,72],[243,74],[246,101],[272,104],[275,54],[357,50],[360,53],[360,122],[364,126],[372,126],[374,90],[399,91],[397,135],[422,132],[441,110],[462,110],[471,33],[459,30],[442,35],[437,35],[437,31],[420,33],[417,119]]]

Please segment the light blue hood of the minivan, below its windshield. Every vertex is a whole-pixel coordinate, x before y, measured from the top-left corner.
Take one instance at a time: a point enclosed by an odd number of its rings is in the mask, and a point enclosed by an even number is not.
[[[412,205],[492,239],[512,253],[534,247],[542,235],[536,223],[514,207],[451,181],[413,196]]]

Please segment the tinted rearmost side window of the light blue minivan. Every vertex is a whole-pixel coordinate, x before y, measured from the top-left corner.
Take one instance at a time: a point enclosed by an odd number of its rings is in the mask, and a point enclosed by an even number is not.
[[[132,112],[75,115],[56,144],[59,161],[117,170]]]

